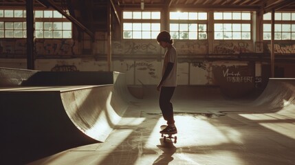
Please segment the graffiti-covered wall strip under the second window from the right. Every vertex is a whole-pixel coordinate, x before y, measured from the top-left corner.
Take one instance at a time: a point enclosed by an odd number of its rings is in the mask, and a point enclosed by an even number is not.
[[[214,46],[214,54],[240,54],[246,52],[253,52],[253,45],[247,41],[219,41]]]

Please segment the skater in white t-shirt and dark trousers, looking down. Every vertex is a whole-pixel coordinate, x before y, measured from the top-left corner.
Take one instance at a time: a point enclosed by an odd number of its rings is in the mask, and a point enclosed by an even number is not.
[[[162,111],[164,120],[167,121],[165,129],[160,133],[177,133],[175,126],[173,104],[171,98],[173,96],[175,87],[177,86],[177,54],[176,49],[173,46],[173,39],[167,31],[162,31],[157,36],[157,43],[163,48],[166,48],[164,55],[164,63],[162,69],[162,78],[159,85],[157,85],[157,91],[160,91],[159,104]]]

